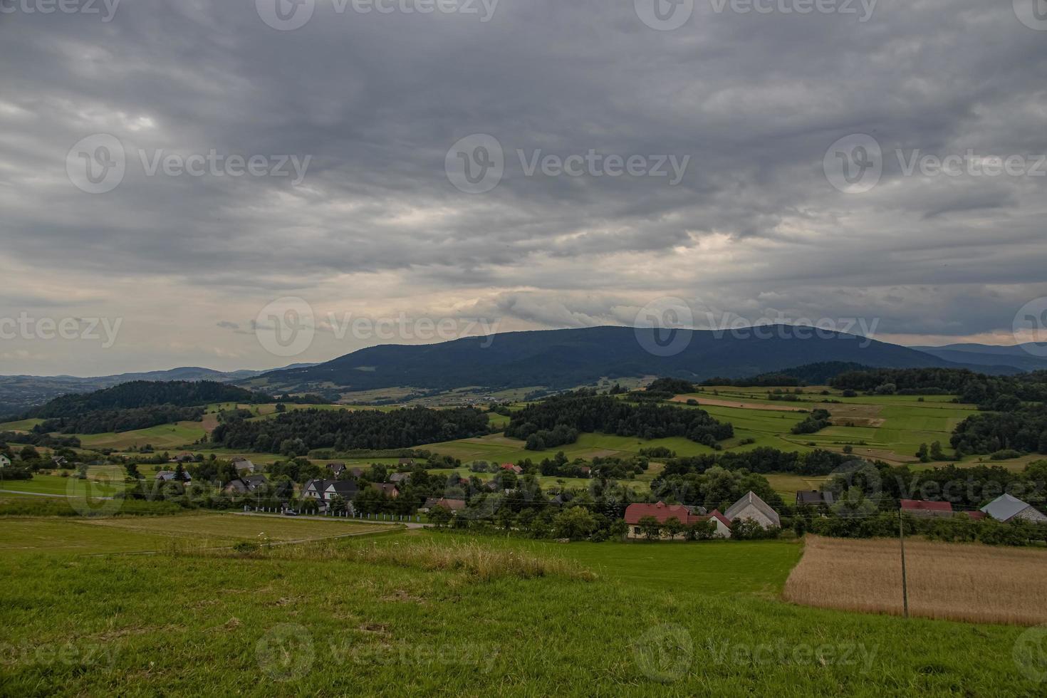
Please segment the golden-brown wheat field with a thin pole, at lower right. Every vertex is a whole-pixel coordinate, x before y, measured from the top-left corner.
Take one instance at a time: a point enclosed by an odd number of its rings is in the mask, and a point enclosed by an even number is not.
[[[1047,623],[1047,550],[906,540],[909,612],[977,623]],[[807,536],[784,598],[900,615],[897,540]]]

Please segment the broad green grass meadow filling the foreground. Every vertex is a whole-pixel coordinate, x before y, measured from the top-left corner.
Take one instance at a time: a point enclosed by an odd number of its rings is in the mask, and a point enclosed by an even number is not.
[[[0,521],[4,539],[27,538],[9,526]],[[781,601],[798,556],[782,541],[555,545],[429,532],[248,556],[5,551],[0,694],[1042,691],[1012,654],[1022,628]]]

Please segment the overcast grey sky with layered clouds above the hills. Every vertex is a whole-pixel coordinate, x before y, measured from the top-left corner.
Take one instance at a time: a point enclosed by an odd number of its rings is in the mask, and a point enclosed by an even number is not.
[[[1047,296],[1037,0],[459,1],[0,0],[0,374],[267,368],[673,298],[697,327],[1013,343]],[[274,353],[284,298],[316,332]]]

